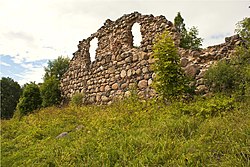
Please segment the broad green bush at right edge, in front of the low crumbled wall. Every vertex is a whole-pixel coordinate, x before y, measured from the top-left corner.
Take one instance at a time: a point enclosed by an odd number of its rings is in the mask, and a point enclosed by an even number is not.
[[[234,94],[239,99],[250,95],[250,49],[236,48],[230,60],[221,60],[204,75],[212,92]]]

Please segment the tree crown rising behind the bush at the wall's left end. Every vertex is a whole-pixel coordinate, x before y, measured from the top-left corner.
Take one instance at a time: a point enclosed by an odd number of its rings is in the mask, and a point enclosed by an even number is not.
[[[44,80],[47,78],[50,78],[52,76],[55,76],[58,80],[62,79],[63,74],[68,70],[69,68],[69,58],[59,56],[57,59],[48,62],[48,66],[44,68],[45,75]]]

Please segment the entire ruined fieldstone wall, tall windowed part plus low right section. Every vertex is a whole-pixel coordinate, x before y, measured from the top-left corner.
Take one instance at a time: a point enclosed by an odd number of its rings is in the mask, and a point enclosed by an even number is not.
[[[139,47],[133,46],[131,28],[134,23],[141,26],[142,41]],[[137,88],[141,97],[155,96],[150,86],[155,76],[150,68],[154,63],[150,55],[155,37],[166,29],[178,46],[179,34],[164,16],[134,12],[116,21],[106,20],[96,33],[79,42],[69,70],[61,80],[63,97],[68,99],[74,93],[82,92],[86,96],[85,103],[107,104],[129,95],[132,88]],[[98,47],[96,59],[91,62],[89,48],[94,38],[98,39]],[[179,48],[182,67],[196,79],[197,92],[206,91],[202,79],[206,69],[219,59],[228,57],[237,44],[239,37],[233,36],[227,38],[224,44],[201,51]]]

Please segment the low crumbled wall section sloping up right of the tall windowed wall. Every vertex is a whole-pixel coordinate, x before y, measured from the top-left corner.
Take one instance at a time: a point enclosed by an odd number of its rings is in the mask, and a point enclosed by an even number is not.
[[[225,38],[225,43],[209,46],[200,51],[184,50],[179,48],[181,66],[185,72],[195,79],[197,93],[207,93],[204,85],[204,74],[208,68],[222,59],[230,59],[235,47],[242,43],[238,35]]]

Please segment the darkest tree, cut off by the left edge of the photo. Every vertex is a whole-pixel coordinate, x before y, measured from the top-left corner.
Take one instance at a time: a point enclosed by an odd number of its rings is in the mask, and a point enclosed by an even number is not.
[[[1,85],[1,118],[11,118],[15,112],[21,94],[20,85],[13,79],[2,77]]]

